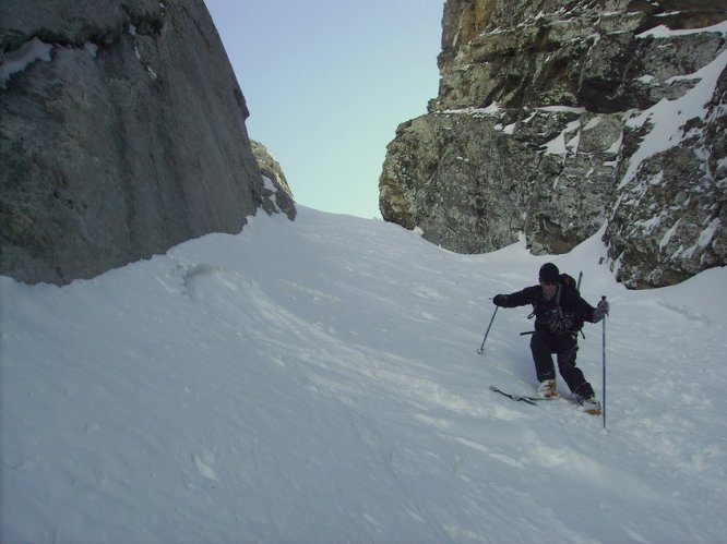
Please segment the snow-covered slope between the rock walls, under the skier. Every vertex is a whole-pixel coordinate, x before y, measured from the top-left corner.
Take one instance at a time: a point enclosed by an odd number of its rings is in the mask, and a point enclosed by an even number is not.
[[[299,208],[70,286],[0,278],[7,542],[727,542],[727,269],[627,291],[607,425],[535,388],[515,244]],[[601,325],[580,365],[601,390]],[[561,390],[564,389],[559,382]]]

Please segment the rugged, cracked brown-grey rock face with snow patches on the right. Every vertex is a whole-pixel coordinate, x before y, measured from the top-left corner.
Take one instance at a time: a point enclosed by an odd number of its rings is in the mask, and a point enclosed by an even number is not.
[[[727,264],[727,1],[448,0],[439,96],[401,124],[385,220],[448,249],[564,253],[628,287]]]

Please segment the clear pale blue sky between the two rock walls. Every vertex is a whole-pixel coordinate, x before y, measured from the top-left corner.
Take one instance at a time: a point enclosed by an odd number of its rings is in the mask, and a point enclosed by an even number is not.
[[[251,138],[296,202],[380,217],[396,126],[437,97],[443,0],[205,0],[250,110]]]

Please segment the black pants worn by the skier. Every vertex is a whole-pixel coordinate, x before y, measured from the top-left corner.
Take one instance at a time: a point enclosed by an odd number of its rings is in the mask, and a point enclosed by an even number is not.
[[[551,355],[551,353],[556,353],[558,370],[571,392],[589,398],[594,395],[593,387],[586,382],[581,368],[575,366],[575,355],[579,351],[577,338],[577,333],[551,335],[545,330],[536,330],[531,338],[531,350],[538,382],[556,379],[556,368]]]

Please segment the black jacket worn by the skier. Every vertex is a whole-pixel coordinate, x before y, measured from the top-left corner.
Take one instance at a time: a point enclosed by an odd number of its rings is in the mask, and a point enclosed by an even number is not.
[[[548,300],[540,286],[526,287],[522,291],[506,294],[503,307],[517,307],[533,304],[535,330],[544,330],[551,335],[577,333],[584,322],[597,323],[594,319],[595,309],[568,286],[558,285],[560,293]],[[560,310],[559,310],[560,306]]]

